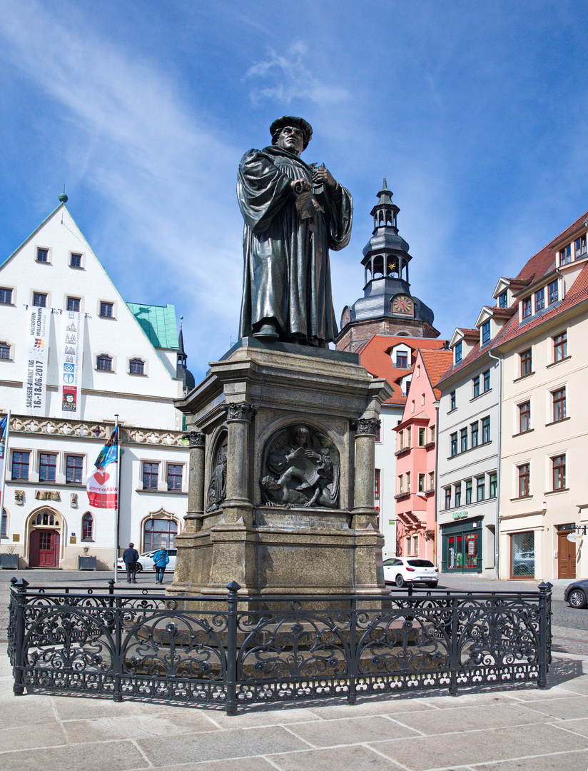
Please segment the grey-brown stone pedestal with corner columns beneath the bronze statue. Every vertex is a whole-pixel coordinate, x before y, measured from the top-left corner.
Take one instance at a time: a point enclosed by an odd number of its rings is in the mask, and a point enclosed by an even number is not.
[[[244,338],[176,405],[190,491],[168,594],[385,593],[374,443],[392,395],[354,353]]]

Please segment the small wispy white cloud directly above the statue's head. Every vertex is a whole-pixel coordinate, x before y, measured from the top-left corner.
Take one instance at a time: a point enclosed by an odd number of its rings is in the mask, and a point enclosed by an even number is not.
[[[317,104],[344,102],[348,89],[329,85],[313,75],[306,62],[308,47],[301,40],[294,41],[285,55],[270,50],[267,59],[257,62],[245,73],[246,79],[267,81],[251,91],[254,101],[265,97],[290,104],[293,99],[308,99]]]

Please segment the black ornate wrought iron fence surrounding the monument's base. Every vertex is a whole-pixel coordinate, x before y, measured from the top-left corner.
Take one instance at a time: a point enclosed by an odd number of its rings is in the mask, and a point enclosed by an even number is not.
[[[13,579],[14,581],[14,579]],[[27,690],[223,705],[535,681],[546,686],[551,584],[536,592],[271,598],[12,586],[16,695]],[[183,609],[184,601],[192,610]],[[194,604],[196,602],[196,604]]]

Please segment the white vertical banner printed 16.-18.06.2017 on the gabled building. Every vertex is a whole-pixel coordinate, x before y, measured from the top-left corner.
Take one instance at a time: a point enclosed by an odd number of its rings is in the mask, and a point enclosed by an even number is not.
[[[49,351],[49,311],[29,307],[25,376],[25,413],[45,417],[47,390],[47,352]]]

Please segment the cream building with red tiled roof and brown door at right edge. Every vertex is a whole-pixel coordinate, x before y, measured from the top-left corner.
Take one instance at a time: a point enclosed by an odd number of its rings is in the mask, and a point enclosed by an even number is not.
[[[517,303],[492,346],[502,369],[501,578],[588,577],[586,547],[567,538],[588,525],[587,217],[495,294]]]

